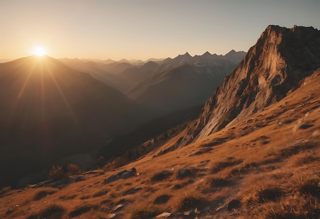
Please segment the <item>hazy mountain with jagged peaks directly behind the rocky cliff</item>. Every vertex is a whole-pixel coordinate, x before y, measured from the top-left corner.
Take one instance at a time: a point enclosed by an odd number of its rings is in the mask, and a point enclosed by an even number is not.
[[[225,56],[192,57],[189,53],[161,62],[149,77],[125,92],[134,101],[163,111],[175,111],[207,101],[224,77],[238,65],[245,52]],[[129,69],[128,69],[129,71]]]

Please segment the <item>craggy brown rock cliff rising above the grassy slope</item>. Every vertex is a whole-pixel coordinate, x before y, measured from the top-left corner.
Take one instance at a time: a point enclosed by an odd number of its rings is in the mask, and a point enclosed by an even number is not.
[[[281,100],[320,68],[320,31],[268,26],[215,94],[180,146],[210,135]]]

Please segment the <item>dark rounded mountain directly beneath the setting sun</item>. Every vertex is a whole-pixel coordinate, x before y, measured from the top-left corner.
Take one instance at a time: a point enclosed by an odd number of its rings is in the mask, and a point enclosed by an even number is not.
[[[49,56],[0,64],[0,184],[93,151],[144,121],[116,89]],[[13,185],[13,184],[12,184]]]

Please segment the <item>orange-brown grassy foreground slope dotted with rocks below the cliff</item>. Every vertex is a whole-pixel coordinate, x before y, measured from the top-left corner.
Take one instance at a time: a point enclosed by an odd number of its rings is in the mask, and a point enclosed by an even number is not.
[[[233,126],[154,156],[174,144],[180,137],[177,135],[161,148],[115,170],[135,167],[143,172],[140,177],[102,185],[115,171],[96,170],[83,173],[86,180],[61,189],[0,193],[0,217],[108,218],[116,214],[116,218],[130,218],[137,212],[152,215],[166,211],[182,218],[179,212],[197,206],[200,218],[316,218],[315,209],[320,208],[319,73],[280,102]],[[189,168],[192,176],[178,179],[179,168]],[[156,176],[162,170],[173,174]],[[36,195],[40,200],[35,200]],[[160,196],[162,199],[157,199]],[[165,204],[152,204],[156,199]],[[233,199],[239,200],[241,207],[228,211],[226,205]],[[112,211],[119,204],[123,206]]]

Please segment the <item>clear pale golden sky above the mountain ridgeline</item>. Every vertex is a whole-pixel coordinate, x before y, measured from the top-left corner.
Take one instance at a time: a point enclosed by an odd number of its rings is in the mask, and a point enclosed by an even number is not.
[[[320,29],[319,0],[0,0],[0,59],[143,59],[247,51],[265,28]]]

